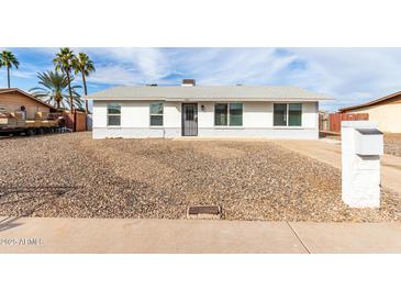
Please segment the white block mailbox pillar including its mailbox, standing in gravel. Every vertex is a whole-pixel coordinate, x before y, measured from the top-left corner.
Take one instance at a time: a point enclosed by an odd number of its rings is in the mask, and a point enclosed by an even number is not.
[[[342,122],[342,197],[349,207],[380,207],[383,135],[371,121]]]

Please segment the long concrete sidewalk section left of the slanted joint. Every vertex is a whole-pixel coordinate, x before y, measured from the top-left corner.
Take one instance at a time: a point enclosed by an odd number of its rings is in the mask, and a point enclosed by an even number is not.
[[[0,253],[305,253],[286,222],[2,218],[0,239]]]

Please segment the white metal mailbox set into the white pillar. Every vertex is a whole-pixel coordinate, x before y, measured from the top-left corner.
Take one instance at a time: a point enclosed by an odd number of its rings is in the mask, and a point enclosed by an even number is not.
[[[355,153],[359,156],[383,155],[383,133],[377,129],[355,129]]]

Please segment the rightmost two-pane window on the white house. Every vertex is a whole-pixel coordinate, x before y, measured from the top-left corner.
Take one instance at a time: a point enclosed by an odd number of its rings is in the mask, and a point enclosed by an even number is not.
[[[274,107],[275,126],[302,125],[302,103],[275,103]]]

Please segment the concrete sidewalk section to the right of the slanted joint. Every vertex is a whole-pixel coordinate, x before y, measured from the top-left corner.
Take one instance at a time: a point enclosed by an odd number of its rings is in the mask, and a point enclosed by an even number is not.
[[[290,223],[311,253],[401,253],[400,223]]]

